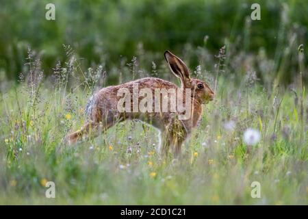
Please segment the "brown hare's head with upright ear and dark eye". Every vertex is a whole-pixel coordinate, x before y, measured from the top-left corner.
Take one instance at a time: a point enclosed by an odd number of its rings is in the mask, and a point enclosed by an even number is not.
[[[179,57],[170,53],[168,50],[164,55],[172,73],[181,79],[181,88],[190,88],[192,97],[199,103],[208,103],[214,99],[214,92],[205,81],[190,78],[188,67]]]

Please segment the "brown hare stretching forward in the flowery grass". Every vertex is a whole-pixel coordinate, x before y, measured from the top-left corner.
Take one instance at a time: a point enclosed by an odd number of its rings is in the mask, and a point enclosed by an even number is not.
[[[102,88],[88,101],[88,105],[86,106],[86,114],[88,117],[84,127],[79,131],[68,134],[65,137],[66,142],[73,144],[81,140],[82,136],[98,136],[99,133],[109,129],[115,123],[127,119],[138,119],[160,130],[160,133],[162,133],[162,144],[159,146],[159,151],[163,155],[168,155],[169,147],[172,148],[175,157],[181,155],[181,144],[188,138],[192,129],[198,125],[198,121],[201,119],[203,112],[203,105],[214,99],[214,92],[204,81],[190,78],[188,67],[179,57],[170,51],[166,51],[164,56],[171,72],[181,80],[180,88],[174,83],[155,77],[146,77],[118,86]],[[134,88],[136,86],[137,90]],[[137,97],[134,95],[129,96],[129,101],[123,104],[125,105],[124,112],[123,109],[119,110],[119,102],[122,99],[119,96],[120,90],[128,90],[133,94],[136,91],[141,92],[142,89],[147,89],[150,92],[148,94],[157,94],[157,90],[174,90],[178,94],[183,94],[185,96],[182,99],[183,103],[185,103],[185,106],[190,105],[191,107],[190,109],[185,108],[185,112],[171,112],[170,108],[177,105],[171,103],[171,98],[168,99],[168,94],[172,92],[161,92],[155,98],[150,95],[149,102],[146,105],[146,111],[131,110],[134,107],[134,105],[131,106],[131,103],[133,101],[142,101],[142,95]],[[168,107],[167,110],[163,110],[159,104],[162,104],[166,99]],[[156,107],[155,104],[159,106]],[[155,110],[151,110],[151,107],[155,107]],[[188,118],[183,118],[183,114],[187,112],[189,112]],[[162,150],[161,147],[163,148]]]

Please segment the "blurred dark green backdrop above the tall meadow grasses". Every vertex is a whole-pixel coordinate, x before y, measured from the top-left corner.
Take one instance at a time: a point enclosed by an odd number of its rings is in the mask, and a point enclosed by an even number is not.
[[[47,3],[55,4],[55,21],[45,19]],[[261,21],[251,21],[252,3],[261,5]],[[107,72],[134,55],[140,62],[146,57],[144,69],[151,71],[152,62],[164,62],[166,49],[191,68],[205,62],[211,70],[214,63],[201,60],[207,56],[200,58],[198,48],[214,57],[226,44],[227,67],[237,57],[259,55],[255,60],[263,57],[274,63],[267,72],[271,79],[288,84],[298,73],[298,46],[304,44],[307,51],[307,14],[305,0],[1,0],[0,79],[17,81],[28,48],[36,51],[44,73],[50,75],[58,61],[66,60],[63,44],[79,55],[84,69],[101,65]],[[230,74],[242,71],[228,69]],[[110,75],[109,80],[117,78]]]

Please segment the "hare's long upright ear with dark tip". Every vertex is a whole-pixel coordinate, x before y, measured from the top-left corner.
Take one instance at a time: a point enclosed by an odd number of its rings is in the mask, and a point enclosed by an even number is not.
[[[188,86],[187,83],[190,83],[190,72],[185,63],[168,50],[165,51],[164,55],[172,73],[181,79],[184,86]]]

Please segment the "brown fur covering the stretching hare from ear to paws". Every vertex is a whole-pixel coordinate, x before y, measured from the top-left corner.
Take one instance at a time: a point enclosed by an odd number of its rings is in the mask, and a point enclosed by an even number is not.
[[[97,94],[94,94],[91,101],[88,103],[88,122],[86,125],[79,131],[68,134],[65,138],[66,141],[75,143],[77,140],[81,139],[82,136],[97,136],[102,131],[109,129],[112,125],[120,121],[139,119],[162,131],[164,154],[167,154],[169,146],[172,146],[175,155],[180,155],[181,144],[198,124],[203,112],[203,104],[214,98],[214,92],[204,81],[191,79],[187,66],[185,66],[179,57],[166,51],[165,58],[172,73],[181,79],[181,88],[177,87],[174,83],[154,77],[146,77],[118,86],[103,88],[99,90]],[[118,90],[120,88],[128,88],[132,94],[134,83],[138,83],[139,89],[150,88],[153,92],[153,96],[155,88],[175,88],[175,90],[181,89],[182,91],[183,88],[191,88],[192,96],[190,100],[192,101],[192,116],[188,120],[179,120],[176,114],[171,114],[170,112],[118,112],[117,103],[119,99],[122,98],[117,96]],[[198,88],[199,84],[203,85],[203,89]],[[139,101],[141,101],[141,99],[143,99],[143,97],[140,97]],[[185,98],[183,98],[183,101],[185,101]],[[131,108],[133,105],[132,102],[133,98],[131,97]],[[153,100],[153,107],[154,103],[155,101]],[[168,109],[170,110],[170,107],[168,107]]]

